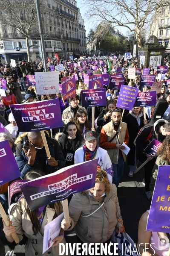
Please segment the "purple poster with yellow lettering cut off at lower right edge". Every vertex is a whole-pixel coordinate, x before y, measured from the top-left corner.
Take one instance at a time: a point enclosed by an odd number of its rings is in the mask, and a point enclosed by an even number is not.
[[[170,166],[159,165],[146,231],[168,232],[170,229]],[[158,239],[159,240],[159,239]],[[167,241],[167,246],[169,239]],[[166,245],[166,244],[165,244]]]

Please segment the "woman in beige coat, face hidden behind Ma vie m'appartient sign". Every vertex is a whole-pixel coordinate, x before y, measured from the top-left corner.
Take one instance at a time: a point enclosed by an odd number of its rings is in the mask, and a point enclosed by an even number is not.
[[[30,171],[26,174],[25,179],[32,180],[41,176],[43,175],[40,171]],[[7,243],[9,246],[10,244],[13,246],[17,245],[11,235],[12,232],[16,232],[22,244],[24,234],[24,237],[27,239],[25,245],[26,256],[48,256],[49,254],[51,256],[57,256],[59,255],[59,243],[62,242],[66,244],[64,230],[61,229],[58,237],[53,239],[55,243],[45,253],[43,253],[43,234],[44,226],[63,212],[62,205],[60,202],[56,202],[45,206],[39,217],[37,210],[38,209],[30,212],[24,197],[17,203],[11,205],[10,213],[12,226],[6,227],[3,221],[3,231],[6,235]]]

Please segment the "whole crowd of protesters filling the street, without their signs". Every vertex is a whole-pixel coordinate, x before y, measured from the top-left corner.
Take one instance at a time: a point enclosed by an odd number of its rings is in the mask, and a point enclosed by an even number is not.
[[[114,62],[113,59],[103,58],[104,65],[101,65],[95,56],[92,59],[52,60],[47,63],[48,71],[50,71],[51,65],[57,66],[58,64],[63,64],[64,70],[59,72],[60,83],[63,77],[77,74],[76,95],[70,99],[71,106],[69,106],[67,100],[62,99],[61,92],[58,94],[36,95],[35,88],[26,85],[27,75],[35,75],[35,72],[44,71],[41,62],[29,63],[23,61],[22,63],[17,63],[16,67],[11,67],[8,63],[5,65],[0,63],[1,78],[6,79],[7,82],[6,96],[0,96],[0,123],[8,130],[8,132],[0,133],[0,141],[9,141],[20,169],[21,179],[32,180],[46,174],[52,174],[64,166],[98,159],[95,187],[88,191],[83,191],[83,193],[75,194],[70,198],[70,223],[65,223],[64,220],[62,221],[61,232],[54,239],[55,244],[43,254],[45,256],[49,253],[59,255],[58,244],[60,242],[66,242],[64,239],[64,230],[67,229],[72,230],[74,228],[77,241],[81,244],[108,244],[111,241],[111,236],[115,229],[116,232],[123,231],[123,220],[118,203],[117,187],[123,176],[126,159],[129,165],[129,177],[135,175],[134,172],[138,168],[139,161],[143,163],[146,159],[149,160],[144,166],[145,174],[143,180],[146,196],[149,200],[153,195],[158,166],[170,164],[170,111],[168,109],[170,104],[170,89],[164,85],[164,81],[170,79],[170,61],[168,57],[164,59],[164,65],[168,66],[168,70],[163,80],[158,79],[156,70],[152,66],[144,67],[140,65],[138,58],[129,61],[124,58],[116,58]],[[163,82],[162,88],[160,88],[160,92],[156,96],[156,106],[158,107],[150,106],[146,118],[144,118],[142,107],[133,107],[132,111],[125,111],[122,116],[123,109],[116,107],[119,90],[114,93],[114,90],[108,90],[108,86],[104,85],[106,89],[106,104],[102,107],[95,107],[95,124],[92,124],[91,108],[81,106],[81,90],[87,88],[83,76],[86,72],[85,69],[83,72],[78,72],[78,66],[82,66],[82,61],[83,67],[91,65],[91,63],[97,65],[98,74],[104,74],[105,72],[115,74],[116,68],[122,67],[122,73],[125,78],[124,84],[139,88],[140,91],[142,91],[140,84],[141,76],[128,79],[128,68],[141,68],[141,75],[143,68],[150,68],[150,74],[156,75],[156,81],[160,80]],[[77,67],[74,67],[70,71],[69,63],[76,63]],[[150,88],[147,88],[147,90],[150,90]],[[22,103],[23,101],[20,91],[26,92],[25,104],[38,100],[59,99],[63,127],[53,129],[52,133],[50,131],[45,132],[51,154],[49,158],[46,156],[46,150],[40,132],[20,132],[14,116],[10,113],[10,105]],[[167,111],[162,110],[163,112],[161,112],[161,109],[159,109],[161,118],[155,123],[152,117],[154,111],[157,111],[159,108],[159,102],[163,102],[167,106]],[[158,150],[157,159],[156,157],[143,153],[153,138],[163,143]],[[130,147],[130,152],[127,156],[121,151],[125,149],[122,145],[123,143]],[[8,186],[2,185],[0,186],[0,202],[6,211],[9,206],[8,200]],[[104,206],[102,203],[104,203]],[[42,255],[43,230],[50,216],[50,211],[52,215],[52,218],[50,218],[52,220],[63,212],[61,203],[47,205],[38,216],[36,210],[30,212],[23,195],[20,196],[17,202],[13,198],[11,206],[12,226],[6,227],[3,221],[4,228],[1,231],[5,233],[6,244],[10,248],[14,248],[17,245],[11,235],[15,231],[20,238],[20,244],[26,244],[26,256]],[[91,217],[93,213],[95,214]],[[148,212],[144,216],[142,215],[139,223],[140,243],[145,243],[146,241],[150,243],[151,237],[154,236],[154,232],[149,232],[148,234],[145,231],[147,218]],[[25,238],[26,242],[23,241]],[[5,251],[1,241],[0,246],[0,256],[4,256]],[[152,247],[150,247],[148,253],[152,255]],[[159,248],[157,255],[162,255]]]

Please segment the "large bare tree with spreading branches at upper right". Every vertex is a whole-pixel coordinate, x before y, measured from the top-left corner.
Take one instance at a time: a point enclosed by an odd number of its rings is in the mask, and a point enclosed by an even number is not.
[[[135,31],[138,47],[142,47],[141,29],[150,28],[155,12],[161,12],[167,4],[166,0],[83,0],[87,10],[87,18],[97,23],[106,21],[112,26],[127,27]]]

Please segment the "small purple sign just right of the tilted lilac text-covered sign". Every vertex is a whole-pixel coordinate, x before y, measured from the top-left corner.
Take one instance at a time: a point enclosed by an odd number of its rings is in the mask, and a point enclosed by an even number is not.
[[[134,107],[146,107],[156,105],[156,91],[138,92]]]

